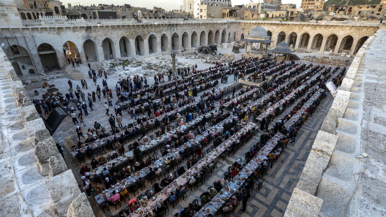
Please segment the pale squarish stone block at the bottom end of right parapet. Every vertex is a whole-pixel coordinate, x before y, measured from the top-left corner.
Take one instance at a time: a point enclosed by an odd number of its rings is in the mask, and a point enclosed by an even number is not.
[[[323,200],[295,188],[284,217],[317,217]]]

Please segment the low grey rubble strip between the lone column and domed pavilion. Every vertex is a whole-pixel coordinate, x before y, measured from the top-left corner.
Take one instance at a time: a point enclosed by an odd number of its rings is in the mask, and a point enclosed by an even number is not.
[[[200,63],[216,63],[216,61],[220,63],[229,63],[234,59],[233,53],[232,55],[219,54],[219,53],[217,53],[217,55],[211,55],[211,54],[199,53],[198,51],[181,52],[176,56],[185,58],[185,59],[201,59]]]

